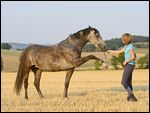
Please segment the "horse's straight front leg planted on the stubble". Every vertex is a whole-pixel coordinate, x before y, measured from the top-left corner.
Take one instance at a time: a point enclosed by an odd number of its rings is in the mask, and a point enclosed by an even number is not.
[[[64,98],[67,98],[69,82],[73,72],[74,72],[74,68],[66,71],[65,88],[64,88],[64,95],[63,95]]]

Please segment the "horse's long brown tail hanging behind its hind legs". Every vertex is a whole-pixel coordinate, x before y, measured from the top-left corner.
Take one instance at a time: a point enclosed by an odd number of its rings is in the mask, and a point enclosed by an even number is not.
[[[17,95],[20,94],[21,88],[22,88],[22,83],[24,80],[24,72],[21,66],[21,63],[19,64],[19,69],[18,69],[18,73],[17,73],[17,77],[16,77],[16,81],[15,81],[15,85],[14,85],[14,91]]]

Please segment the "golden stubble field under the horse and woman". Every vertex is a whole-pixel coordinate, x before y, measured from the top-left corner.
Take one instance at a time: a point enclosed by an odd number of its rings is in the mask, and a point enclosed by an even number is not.
[[[34,75],[29,75],[29,100],[13,93],[16,73],[1,73],[1,111],[100,111],[100,112],[148,112],[149,72],[133,72],[133,88],[137,102],[126,100],[127,92],[121,86],[122,70],[75,71],[69,86],[69,99],[63,99],[65,72],[44,72],[41,90],[45,98],[39,98],[33,85]]]

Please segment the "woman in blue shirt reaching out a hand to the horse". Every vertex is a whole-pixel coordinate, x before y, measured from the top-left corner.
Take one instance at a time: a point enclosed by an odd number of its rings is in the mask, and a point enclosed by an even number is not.
[[[132,72],[135,67],[135,56],[134,56],[134,47],[131,44],[132,42],[132,36],[129,33],[125,33],[122,35],[122,42],[125,44],[124,48],[120,50],[108,50],[108,53],[122,53],[124,52],[125,55],[125,61],[123,62],[124,72],[122,76],[122,85],[128,92],[128,101],[137,101],[136,97],[133,94],[133,88],[132,88]]]

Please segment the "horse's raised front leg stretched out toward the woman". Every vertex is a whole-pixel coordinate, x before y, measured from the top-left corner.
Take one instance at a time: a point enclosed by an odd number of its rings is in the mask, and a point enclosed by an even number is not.
[[[85,56],[85,57],[82,57],[82,58],[76,60],[76,63],[75,63],[75,64],[76,64],[77,67],[79,67],[80,65],[84,64],[85,62],[87,62],[87,61],[90,60],[90,59],[99,60],[99,61],[101,61],[102,63],[104,62],[102,59],[99,59],[99,58],[97,58],[97,57],[94,56],[94,55],[88,55],[88,56]]]

